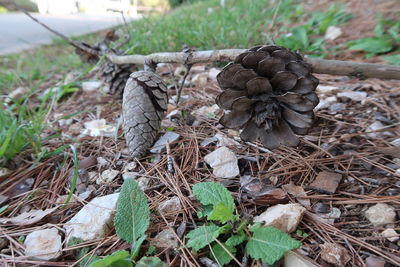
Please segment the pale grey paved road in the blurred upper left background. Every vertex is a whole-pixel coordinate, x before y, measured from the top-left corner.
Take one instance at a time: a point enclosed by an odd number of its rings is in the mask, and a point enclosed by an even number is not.
[[[122,23],[120,16],[33,15],[67,36],[96,32]],[[49,44],[55,37],[25,14],[0,14],[0,55],[17,53],[40,44]]]

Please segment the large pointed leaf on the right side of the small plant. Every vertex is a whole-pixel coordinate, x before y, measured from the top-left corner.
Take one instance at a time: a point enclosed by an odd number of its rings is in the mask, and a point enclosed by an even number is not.
[[[274,264],[286,252],[301,246],[301,242],[274,227],[252,230],[253,236],[246,245],[246,251],[253,259],[261,259],[263,263]]]

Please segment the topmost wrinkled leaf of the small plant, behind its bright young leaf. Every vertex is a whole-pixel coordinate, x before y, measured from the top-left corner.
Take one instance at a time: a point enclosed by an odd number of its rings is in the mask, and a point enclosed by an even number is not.
[[[222,184],[215,182],[204,182],[193,186],[193,194],[204,206],[212,205],[215,209],[222,203],[226,211],[225,214],[230,213],[233,216],[235,210],[235,202],[231,193]],[[221,206],[219,207],[221,209]],[[213,211],[214,212],[214,211]],[[218,213],[218,212],[217,212]],[[218,217],[218,216],[217,216]]]

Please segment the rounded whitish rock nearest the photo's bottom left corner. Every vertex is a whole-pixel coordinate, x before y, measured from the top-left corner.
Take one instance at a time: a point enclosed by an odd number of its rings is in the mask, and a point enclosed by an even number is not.
[[[28,234],[24,241],[25,256],[35,260],[52,260],[60,256],[61,236],[56,228],[37,230]]]

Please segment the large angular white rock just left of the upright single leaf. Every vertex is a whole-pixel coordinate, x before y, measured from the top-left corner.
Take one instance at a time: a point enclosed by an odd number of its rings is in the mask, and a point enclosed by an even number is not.
[[[119,193],[97,197],[64,224],[68,239],[84,241],[102,238],[110,230]]]

